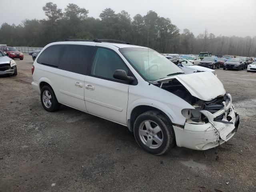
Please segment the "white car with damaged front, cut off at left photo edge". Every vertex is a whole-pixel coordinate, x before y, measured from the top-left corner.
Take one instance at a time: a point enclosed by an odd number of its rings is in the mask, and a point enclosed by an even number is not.
[[[0,75],[17,75],[16,62],[0,50]]]

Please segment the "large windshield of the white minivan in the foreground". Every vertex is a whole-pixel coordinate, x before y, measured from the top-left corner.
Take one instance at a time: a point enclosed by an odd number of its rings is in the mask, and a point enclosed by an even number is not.
[[[178,66],[158,52],[147,48],[121,48],[128,62],[148,81],[156,81],[172,74],[184,73]]]

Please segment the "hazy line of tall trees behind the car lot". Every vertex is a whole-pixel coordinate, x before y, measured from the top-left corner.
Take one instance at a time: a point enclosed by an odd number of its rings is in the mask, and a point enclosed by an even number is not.
[[[24,20],[18,26],[3,23],[0,43],[9,46],[43,47],[50,42],[67,38],[116,39],[150,47],[161,53],[229,54],[256,56],[256,36],[215,36],[206,29],[194,36],[188,29],[182,32],[170,18],[158,16],[152,10],[133,18],[122,10],[116,13],[106,8],[100,18],[88,17],[88,10],[70,3],[62,9],[52,2],[42,8],[47,19]]]

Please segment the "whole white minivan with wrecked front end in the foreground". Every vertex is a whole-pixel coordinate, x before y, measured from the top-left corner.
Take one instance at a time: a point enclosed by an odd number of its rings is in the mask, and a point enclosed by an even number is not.
[[[212,72],[184,74],[146,47],[54,42],[38,54],[32,77],[46,111],[64,104],[127,126],[151,154],[174,145],[213,148],[232,138],[239,125],[230,94]]]

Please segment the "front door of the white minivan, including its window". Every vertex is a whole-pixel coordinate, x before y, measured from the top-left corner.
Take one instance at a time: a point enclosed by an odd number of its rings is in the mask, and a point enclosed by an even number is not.
[[[128,67],[116,52],[97,48],[85,78],[84,100],[89,113],[126,125],[129,85],[113,78],[118,69],[128,74]]]

